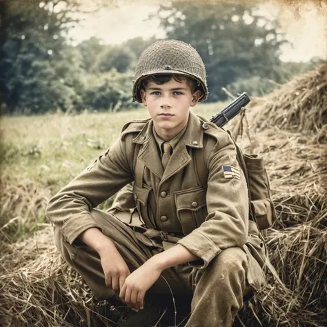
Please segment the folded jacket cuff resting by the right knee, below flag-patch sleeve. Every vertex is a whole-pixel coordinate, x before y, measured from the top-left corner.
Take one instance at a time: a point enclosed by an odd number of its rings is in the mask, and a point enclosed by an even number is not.
[[[221,252],[221,248],[199,230],[193,230],[189,235],[180,239],[177,244],[185,246],[193,255],[202,259],[203,262],[189,263],[191,267],[198,269],[206,268],[210,261]]]

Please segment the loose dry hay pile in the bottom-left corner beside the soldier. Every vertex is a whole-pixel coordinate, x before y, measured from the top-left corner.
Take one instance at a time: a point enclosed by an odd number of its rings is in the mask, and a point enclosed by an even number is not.
[[[115,308],[61,259],[52,228],[1,250],[1,326],[115,326]]]

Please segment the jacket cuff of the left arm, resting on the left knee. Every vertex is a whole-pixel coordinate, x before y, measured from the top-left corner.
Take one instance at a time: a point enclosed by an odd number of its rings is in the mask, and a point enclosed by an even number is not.
[[[92,227],[101,230],[100,226],[95,222],[91,215],[70,217],[70,219],[61,226],[63,241],[72,245],[82,232]]]

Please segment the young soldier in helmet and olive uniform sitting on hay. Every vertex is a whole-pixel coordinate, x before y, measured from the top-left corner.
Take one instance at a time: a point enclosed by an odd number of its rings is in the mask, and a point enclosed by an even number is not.
[[[235,145],[190,112],[208,96],[204,63],[184,42],[158,41],[141,54],[135,77],[133,98],[151,118],[123,126],[106,153],[50,200],[56,244],[98,299],[110,301],[115,290],[138,311],[146,293],[193,293],[186,326],[231,326],[264,276],[246,246],[250,240],[261,250]],[[132,181],[142,226],[95,209]]]

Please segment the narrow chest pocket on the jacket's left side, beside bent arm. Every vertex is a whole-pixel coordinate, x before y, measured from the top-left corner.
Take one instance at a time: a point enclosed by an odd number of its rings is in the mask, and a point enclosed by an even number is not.
[[[137,206],[137,212],[139,212],[139,215],[141,219],[143,219],[143,222],[146,224],[146,226],[155,228],[151,219],[152,215],[150,212],[150,204],[148,204],[148,197],[150,192],[152,192],[152,188],[146,184],[143,184],[143,188],[139,188],[136,183],[133,186],[133,195]]]

